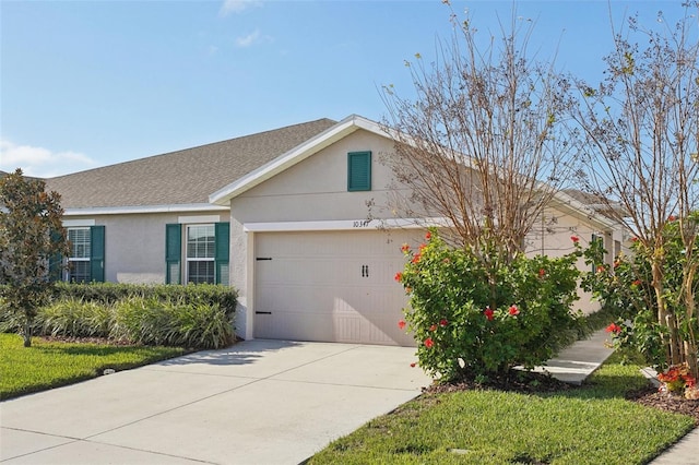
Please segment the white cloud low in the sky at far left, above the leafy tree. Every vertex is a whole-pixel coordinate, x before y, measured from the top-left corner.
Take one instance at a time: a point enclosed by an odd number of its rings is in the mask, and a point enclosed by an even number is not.
[[[0,140],[0,170],[14,172],[22,168],[26,176],[52,178],[94,168],[97,164],[76,152],[51,152],[48,148],[17,145]]]

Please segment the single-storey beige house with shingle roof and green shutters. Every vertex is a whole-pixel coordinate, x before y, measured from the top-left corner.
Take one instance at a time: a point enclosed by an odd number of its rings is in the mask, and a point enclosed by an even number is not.
[[[229,284],[244,338],[413,345],[393,276],[424,230],[368,207],[395,189],[379,159],[392,148],[351,116],[48,179],[72,241],[66,278]],[[531,253],[565,253],[571,234],[620,248],[618,225],[566,193],[546,218]]]

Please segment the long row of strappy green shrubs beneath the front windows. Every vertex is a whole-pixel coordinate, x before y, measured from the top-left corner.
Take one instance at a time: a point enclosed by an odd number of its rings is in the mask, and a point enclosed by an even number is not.
[[[60,283],[51,302],[38,310],[34,333],[218,348],[234,341],[236,303],[235,290],[223,286]],[[23,320],[14,315],[2,309],[2,331],[22,329]]]

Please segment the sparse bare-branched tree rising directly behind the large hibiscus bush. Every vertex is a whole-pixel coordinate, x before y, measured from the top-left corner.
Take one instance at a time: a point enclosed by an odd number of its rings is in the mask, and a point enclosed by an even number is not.
[[[410,195],[394,199],[404,217],[414,211],[448,219],[455,242],[495,265],[523,251],[554,194],[570,179],[576,134],[570,83],[529,57],[533,23],[512,13],[500,37],[485,37],[451,14],[453,35],[429,65],[419,55],[411,70],[416,97],[383,87],[395,141],[386,156]]]

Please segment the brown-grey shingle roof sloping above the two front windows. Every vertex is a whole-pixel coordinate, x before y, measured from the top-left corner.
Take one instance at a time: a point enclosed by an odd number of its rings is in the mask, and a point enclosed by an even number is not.
[[[209,194],[320,134],[319,119],[46,180],[63,208],[209,203]]]

